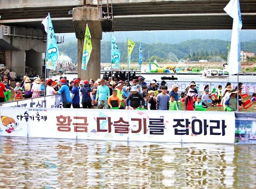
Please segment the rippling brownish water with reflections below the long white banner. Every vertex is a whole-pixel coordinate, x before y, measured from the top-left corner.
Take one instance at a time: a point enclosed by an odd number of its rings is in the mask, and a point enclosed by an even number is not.
[[[0,137],[0,187],[255,188],[256,146]]]

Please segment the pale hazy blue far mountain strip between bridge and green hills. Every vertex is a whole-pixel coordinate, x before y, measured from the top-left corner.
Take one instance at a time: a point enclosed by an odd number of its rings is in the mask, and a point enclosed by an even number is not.
[[[170,30],[170,31],[120,31],[113,33],[117,42],[127,38],[142,43],[181,43],[187,40],[231,40],[231,30]],[[242,30],[241,41],[256,40],[256,30]],[[65,42],[76,41],[74,33],[65,34]],[[110,41],[110,33],[102,34],[102,41]]]

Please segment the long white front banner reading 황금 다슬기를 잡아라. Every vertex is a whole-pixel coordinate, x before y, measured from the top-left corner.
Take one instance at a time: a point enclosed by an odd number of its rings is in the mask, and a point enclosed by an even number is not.
[[[1,108],[0,136],[234,143],[234,112]]]

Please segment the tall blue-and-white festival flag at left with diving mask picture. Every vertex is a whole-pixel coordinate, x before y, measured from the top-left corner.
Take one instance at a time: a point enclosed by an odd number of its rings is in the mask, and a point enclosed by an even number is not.
[[[42,21],[42,24],[44,24],[44,30],[47,33],[46,69],[55,70],[59,56],[59,50],[50,13],[48,13],[48,16]]]

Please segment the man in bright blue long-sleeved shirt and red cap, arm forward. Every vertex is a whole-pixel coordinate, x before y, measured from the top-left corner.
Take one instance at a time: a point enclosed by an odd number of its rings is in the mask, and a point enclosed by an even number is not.
[[[58,94],[61,94],[61,101],[63,104],[63,108],[70,108],[71,107],[71,97],[69,94],[69,88],[66,83],[66,79],[61,79],[59,84],[61,85],[60,90],[58,91]]]

